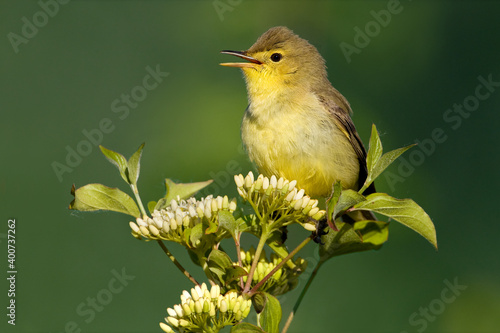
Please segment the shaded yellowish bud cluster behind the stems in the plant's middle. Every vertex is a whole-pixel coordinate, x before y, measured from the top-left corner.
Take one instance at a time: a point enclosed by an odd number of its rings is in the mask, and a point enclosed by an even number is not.
[[[241,264],[248,272],[255,258],[255,249],[252,246],[249,251],[241,250],[240,255]],[[252,287],[271,273],[280,262],[281,258],[276,253],[272,252],[270,259],[267,259],[266,253],[263,250],[252,278]],[[279,268],[276,273],[259,288],[259,291],[265,291],[271,295],[278,296],[295,288],[299,283],[300,274],[307,268],[307,261],[299,257],[293,261],[293,263],[295,264],[294,268],[291,268],[289,265],[283,265]],[[243,277],[243,281],[245,283],[247,282],[247,276]]]

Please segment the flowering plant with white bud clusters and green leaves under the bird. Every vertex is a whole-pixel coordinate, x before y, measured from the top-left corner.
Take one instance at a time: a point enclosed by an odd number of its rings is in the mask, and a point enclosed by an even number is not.
[[[375,126],[367,155],[368,176],[359,191],[343,190],[340,182],[333,184],[325,207],[297,187],[295,180],[235,175],[234,181],[242,204],[251,207],[246,213],[236,199],[209,195],[196,199],[193,195],[211,181],[176,184],[166,179],[167,193],[147,205],[141,201],[137,180],[144,144],[130,159],[100,147],[106,158],[119,170],[130,185],[135,201],[117,188],[89,184],[73,186],[74,200],[70,209],[79,211],[110,210],[125,213],[135,220],[129,223],[132,236],[156,241],[173,264],[193,283],[191,292],[183,291],[181,303],[167,309],[160,327],[165,332],[218,332],[232,326],[231,332],[279,332],[281,304],[276,298],[294,289],[304,274],[307,262],[296,254],[311,240],[318,244],[320,260],[308,277],[288,320],[294,314],[321,265],[343,254],[379,249],[388,238],[387,222],[357,221],[345,218],[356,211],[385,215],[408,226],[437,248],[434,225],[411,199],[396,199],[385,193],[363,195],[365,189],[402,153],[411,146],[382,154]],[[286,242],[286,227],[297,224],[308,236],[292,251]],[[258,239],[256,247],[242,249],[243,235]],[[220,246],[223,239],[232,239],[236,258]],[[167,248],[175,242],[186,248],[193,262],[200,266],[207,282],[199,283]],[[268,257],[266,245],[271,250]],[[257,323],[243,322],[254,309]]]

